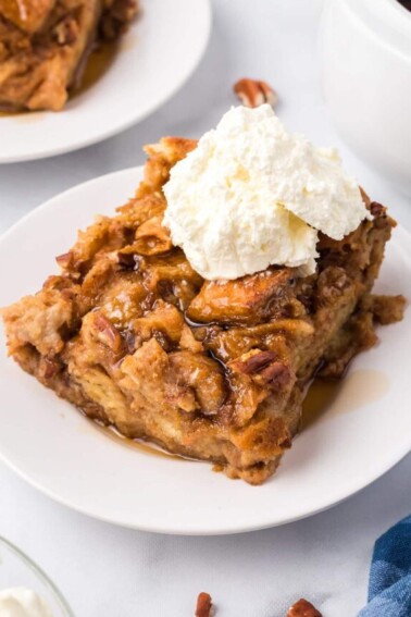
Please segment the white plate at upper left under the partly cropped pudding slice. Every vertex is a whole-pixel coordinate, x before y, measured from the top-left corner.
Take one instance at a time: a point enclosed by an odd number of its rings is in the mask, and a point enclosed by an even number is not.
[[[196,69],[209,38],[209,0],[141,0],[113,63],[62,111],[0,115],[0,163],[89,146],[164,103]]]

